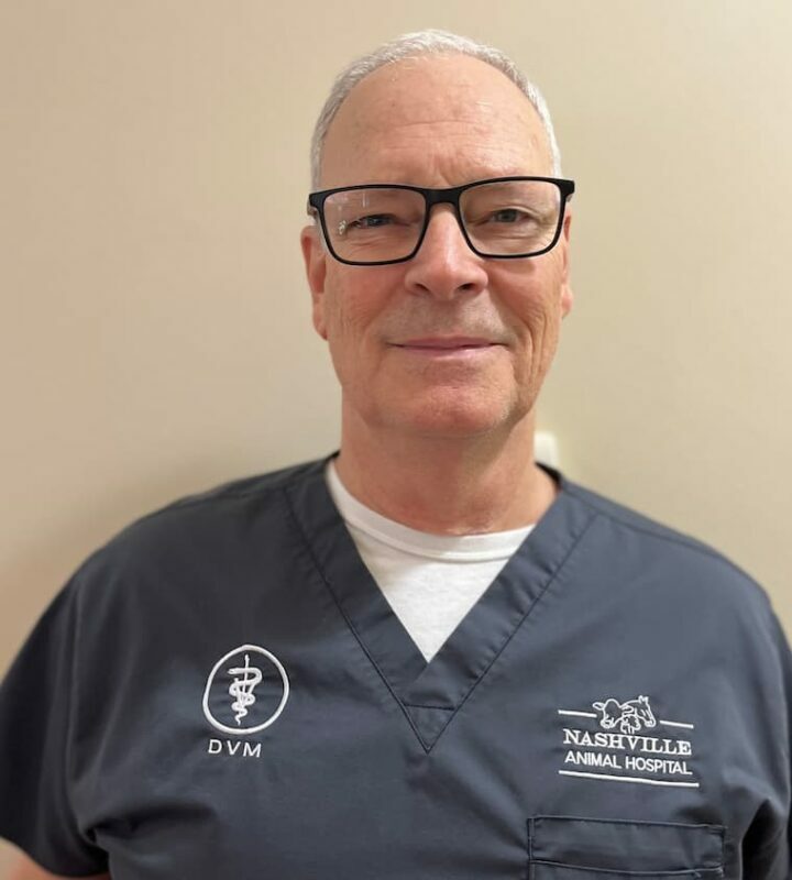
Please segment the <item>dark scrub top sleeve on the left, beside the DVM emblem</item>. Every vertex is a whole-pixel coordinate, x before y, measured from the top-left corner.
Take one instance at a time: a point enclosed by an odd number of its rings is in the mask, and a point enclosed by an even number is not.
[[[0,685],[0,836],[53,873],[87,877],[108,862],[73,798],[75,592],[58,593]]]

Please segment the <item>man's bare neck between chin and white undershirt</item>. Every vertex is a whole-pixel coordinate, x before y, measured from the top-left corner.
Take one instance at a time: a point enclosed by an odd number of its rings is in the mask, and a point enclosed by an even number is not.
[[[376,431],[344,414],[338,474],[382,516],[435,535],[505,531],[538,522],[557,495],[534,462],[531,410],[503,436]]]

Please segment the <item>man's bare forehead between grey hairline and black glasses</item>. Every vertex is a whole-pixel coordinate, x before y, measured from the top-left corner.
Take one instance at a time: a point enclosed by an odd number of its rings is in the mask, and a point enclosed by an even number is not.
[[[543,127],[520,89],[477,58],[448,55],[385,65],[359,82],[330,124],[321,178],[327,188],[454,186],[551,170]]]

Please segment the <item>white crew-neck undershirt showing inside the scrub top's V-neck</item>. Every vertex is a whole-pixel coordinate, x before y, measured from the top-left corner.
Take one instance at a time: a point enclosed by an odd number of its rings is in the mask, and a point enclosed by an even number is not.
[[[353,498],[332,459],[324,477],[363,562],[427,661],[534,528],[431,535],[381,516]]]

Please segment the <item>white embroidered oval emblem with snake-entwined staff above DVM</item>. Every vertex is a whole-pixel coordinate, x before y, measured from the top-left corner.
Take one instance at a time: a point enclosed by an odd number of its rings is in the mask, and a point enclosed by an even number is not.
[[[277,657],[257,645],[241,645],[209,673],[204,714],[226,734],[255,734],[280,715],[288,694],[288,676]]]

